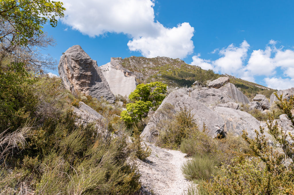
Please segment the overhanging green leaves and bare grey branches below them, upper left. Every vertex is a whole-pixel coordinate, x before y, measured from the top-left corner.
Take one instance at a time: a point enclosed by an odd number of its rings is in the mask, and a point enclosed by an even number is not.
[[[55,69],[57,61],[39,51],[55,45],[42,29],[46,23],[55,27],[64,10],[60,1],[0,1],[0,66],[3,61],[10,61],[23,63],[34,72],[42,72],[44,67]]]

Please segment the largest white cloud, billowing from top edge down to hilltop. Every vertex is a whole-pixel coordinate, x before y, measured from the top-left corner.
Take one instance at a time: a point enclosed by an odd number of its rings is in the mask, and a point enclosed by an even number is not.
[[[90,37],[124,33],[128,47],[146,57],[184,58],[194,49],[194,28],[182,23],[166,28],[154,21],[154,0],[64,0],[62,22]]]

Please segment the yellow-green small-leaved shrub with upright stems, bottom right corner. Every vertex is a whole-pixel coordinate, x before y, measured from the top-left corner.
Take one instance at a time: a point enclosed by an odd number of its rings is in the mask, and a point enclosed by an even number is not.
[[[277,106],[294,126],[294,97],[283,99],[282,95],[275,95]],[[279,129],[271,114],[267,127],[277,146],[269,143],[262,127],[260,132],[255,130],[254,139],[248,138],[248,133],[243,131],[242,137],[256,157],[237,157],[230,165],[223,165],[223,176],[199,184],[201,194],[294,194],[294,136]]]

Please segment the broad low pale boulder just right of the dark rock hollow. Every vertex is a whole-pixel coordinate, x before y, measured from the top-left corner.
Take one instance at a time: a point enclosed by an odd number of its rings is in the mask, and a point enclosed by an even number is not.
[[[243,130],[247,130],[248,136],[254,138],[255,129],[259,131],[260,122],[247,112],[226,107],[214,107],[213,110],[225,121],[224,131],[226,133],[240,136]],[[267,132],[265,136],[270,137]]]

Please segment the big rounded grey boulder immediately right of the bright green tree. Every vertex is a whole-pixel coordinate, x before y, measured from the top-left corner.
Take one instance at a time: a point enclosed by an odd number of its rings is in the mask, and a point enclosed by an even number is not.
[[[194,114],[194,119],[196,119],[198,126],[201,127],[204,122],[208,127],[208,135],[216,137],[217,134],[223,132],[224,121],[216,112],[213,112],[195,98],[190,97],[183,89],[179,89],[170,93],[152,115],[154,120],[150,120],[142,132],[142,136],[144,136],[146,141],[152,142],[158,135],[156,121],[162,117],[158,114],[158,110],[166,103],[173,105],[176,111],[180,111],[184,107],[191,109],[191,113]]]

